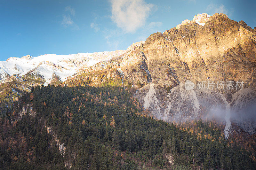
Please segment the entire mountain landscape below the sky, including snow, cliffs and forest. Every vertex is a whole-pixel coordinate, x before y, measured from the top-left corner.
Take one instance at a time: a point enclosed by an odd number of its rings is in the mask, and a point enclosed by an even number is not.
[[[9,58],[0,169],[255,169],[255,67],[256,27],[219,13],[127,50]]]

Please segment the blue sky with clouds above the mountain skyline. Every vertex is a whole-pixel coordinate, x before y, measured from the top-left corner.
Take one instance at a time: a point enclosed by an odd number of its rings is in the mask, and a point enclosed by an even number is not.
[[[255,0],[0,0],[0,60],[124,50],[204,12],[253,28],[255,6]]]

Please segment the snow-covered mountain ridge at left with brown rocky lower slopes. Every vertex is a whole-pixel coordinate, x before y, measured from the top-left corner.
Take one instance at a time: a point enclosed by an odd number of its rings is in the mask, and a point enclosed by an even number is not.
[[[127,50],[71,55],[44,54],[38,57],[30,55],[21,58],[11,57],[0,62],[1,86],[2,89],[10,86],[13,90],[21,92],[30,90],[32,84],[59,85],[67,80],[67,77],[76,74],[78,70],[86,69],[100,61],[127,53],[138,43],[133,43]]]

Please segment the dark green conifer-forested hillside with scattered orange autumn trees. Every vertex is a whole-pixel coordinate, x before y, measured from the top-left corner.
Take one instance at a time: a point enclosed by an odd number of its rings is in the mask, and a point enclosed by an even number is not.
[[[212,122],[196,121],[198,135],[142,117],[131,86],[117,84],[24,92],[0,118],[0,168],[256,168],[255,153],[225,140]]]

